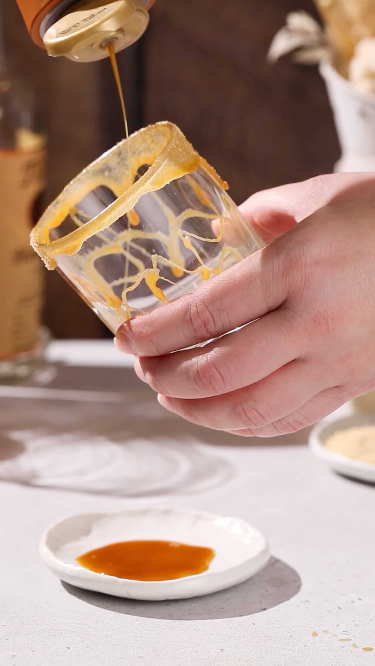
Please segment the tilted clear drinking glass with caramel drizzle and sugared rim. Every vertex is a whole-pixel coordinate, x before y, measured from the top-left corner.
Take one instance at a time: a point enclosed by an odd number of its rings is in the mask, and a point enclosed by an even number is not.
[[[226,188],[178,127],[157,123],[81,172],[31,243],[115,333],[258,249]]]

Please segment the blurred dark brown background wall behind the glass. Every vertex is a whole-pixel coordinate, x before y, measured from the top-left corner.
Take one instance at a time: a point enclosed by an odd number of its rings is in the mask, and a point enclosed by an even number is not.
[[[90,161],[123,137],[108,61],[50,59],[27,36],[17,5],[5,5],[9,51],[40,94],[49,133],[46,203]],[[329,172],[338,143],[315,67],[266,52],[288,11],[310,0],[157,0],[145,37],[119,55],[131,131],[174,121],[230,183],[252,192]],[[57,337],[107,334],[56,274],[46,275],[45,320]]]

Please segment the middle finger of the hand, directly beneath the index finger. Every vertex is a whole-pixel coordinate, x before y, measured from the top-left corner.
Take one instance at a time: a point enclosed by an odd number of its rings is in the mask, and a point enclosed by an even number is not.
[[[282,308],[203,349],[139,358],[135,372],[173,398],[210,398],[259,382],[300,356],[302,336]]]

